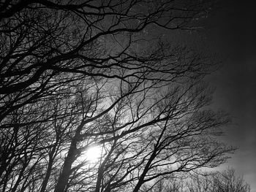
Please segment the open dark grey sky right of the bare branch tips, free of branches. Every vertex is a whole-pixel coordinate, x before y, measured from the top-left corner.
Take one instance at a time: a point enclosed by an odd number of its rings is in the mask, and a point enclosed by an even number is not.
[[[224,165],[243,174],[256,192],[256,12],[253,1],[222,0],[200,38],[221,55],[222,68],[211,74],[214,107],[233,116],[225,142],[238,147]]]

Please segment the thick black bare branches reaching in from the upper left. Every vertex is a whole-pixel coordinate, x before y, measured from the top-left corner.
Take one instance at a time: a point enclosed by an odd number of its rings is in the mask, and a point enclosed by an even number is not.
[[[169,74],[173,66],[163,71],[157,64],[148,65],[168,55],[131,50],[143,49],[138,40],[150,26],[189,28],[189,20],[202,17],[210,3],[1,2],[0,120],[83,77],[129,81],[129,77],[141,77],[142,71]],[[131,70],[123,74],[123,69]]]

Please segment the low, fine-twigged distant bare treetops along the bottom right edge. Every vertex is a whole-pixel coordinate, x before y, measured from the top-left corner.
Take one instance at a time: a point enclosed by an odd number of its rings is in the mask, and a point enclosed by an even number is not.
[[[178,177],[177,177],[178,176]],[[243,177],[237,176],[235,169],[222,172],[194,172],[193,174],[172,174],[159,177],[151,185],[143,185],[143,192],[249,192],[250,187]]]

